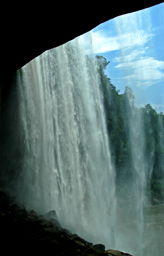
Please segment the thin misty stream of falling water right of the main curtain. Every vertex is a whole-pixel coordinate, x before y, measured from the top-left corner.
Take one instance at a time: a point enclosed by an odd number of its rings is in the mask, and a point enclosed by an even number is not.
[[[142,23],[139,12],[115,19],[119,38],[118,44],[120,44],[119,49],[121,49],[120,60],[122,60],[122,64],[120,65],[124,68],[123,77],[126,78],[126,85],[131,88],[135,88],[135,85],[140,86],[140,81],[145,82],[147,79],[147,83],[150,83],[152,79],[151,76],[147,78],[148,75],[147,73],[144,74],[144,71],[143,73],[137,73],[136,70],[131,71],[129,68],[131,63],[135,69],[135,63],[139,59],[136,52],[144,45],[142,40],[147,40],[146,36],[144,36],[145,28],[147,34],[152,36],[149,9],[143,10],[142,12],[144,12],[144,24]],[[135,93],[135,96],[139,98],[140,95],[136,95]],[[128,113],[131,170],[130,178],[124,182],[121,190],[121,197],[124,198],[124,206],[120,208],[118,204],[116,248],[123,251],[126,250],[134,256],[142,256],[149,255],[150,253],[150,251],[148,252],[148,248],[145,248],[144,251],[144,243],[147,243],[147,237],[144,241],[143,205],[145,203],[146,182],[150,179],[153,170],[154,142],[152,138],[152,145],[149,148],[149,153],[146,155],[146,138],[144,135],[144,129],[146,127],[143,124],[142,114],[139,109],[135,108],[134,105],[132,106],[130,95],[127,95],[127,104],[130,106]],[[156,255],[156,253],[153,255]]]

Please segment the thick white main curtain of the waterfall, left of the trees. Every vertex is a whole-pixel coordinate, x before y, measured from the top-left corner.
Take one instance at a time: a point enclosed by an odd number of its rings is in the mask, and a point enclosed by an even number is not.
[[[15,194],[65,228],[114,245],[114,170],[99,77],[80,39],[44,52],[17,73],[21,151]],[[16,169],[16,168],[15,168]]]

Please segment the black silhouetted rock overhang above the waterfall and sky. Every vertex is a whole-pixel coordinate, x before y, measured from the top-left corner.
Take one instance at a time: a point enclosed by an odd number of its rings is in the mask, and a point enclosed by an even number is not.
[[[7,22],[4,20],[1,27],[2,101],[8,94],[14,71],[44,51],[62,45],[114,17],[162,2],[137,1],[135,5],[112,2],[103,11],[99,11],[97,5],[87,5],[86,8],[87,3],[84,2],[80,9],[70,2],[64,5],[58,2],[58,7],[56,2],[54,6],[44,3],[32,7],[26,5],[26,8],[22,5],[18,8],[15,3],[10,3],[8,7],[7,4],[4,7]]]

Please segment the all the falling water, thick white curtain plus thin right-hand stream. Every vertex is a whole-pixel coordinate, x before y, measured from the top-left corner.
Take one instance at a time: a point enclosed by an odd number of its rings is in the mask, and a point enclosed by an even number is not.
[[[135,41],[133,30],[139,38],[144,34],[139,15],[131,15],[131,25],[128,16],[118,17],[115,23],[122,58],[131,56],[135,61],[136,49],[130,48]],[[146,10],[145,21],[151,30]],[[127,32],[127,38],[122,32]],[[55,210],[63,227],[89,242],[134,256],[149,255],[152,245],[147,237],[144,241],[143,203],[153,150],[146,158],[141,114],[129,108],[132,168],[129,180],[118,188],[123,204],[117,204],[115,230],[114,170],[99,77],[80,40],[46,51],[18,71],[8,117],[2,117],[7,136],[2,137],[5,177],[1,180],[7,180],[26,208],[39,214]],[[127,65],[125,75],[128,72]],[[127,85],[131,87],[130,79]],[[130,101],[128,96],[127,104]],[[144,254],[146,243],[149,248]]]

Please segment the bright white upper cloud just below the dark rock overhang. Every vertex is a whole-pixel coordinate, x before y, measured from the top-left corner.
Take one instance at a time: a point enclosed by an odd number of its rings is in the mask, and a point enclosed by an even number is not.
[[[154,35],[147,34],[144,30],[118,34],[118,36],[114,37],[108,36],[105,30],[92,31],[93,49],[95,54],[97,54],[106,51],[131,48],[136,45],[143,46],[152,36]]]

